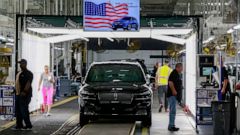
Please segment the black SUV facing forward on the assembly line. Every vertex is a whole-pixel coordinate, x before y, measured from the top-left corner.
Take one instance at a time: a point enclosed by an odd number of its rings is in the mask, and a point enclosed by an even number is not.
[[[152,90],[138,62],[93,63],[79,90],[80,125],[96,118],[152,123]]]

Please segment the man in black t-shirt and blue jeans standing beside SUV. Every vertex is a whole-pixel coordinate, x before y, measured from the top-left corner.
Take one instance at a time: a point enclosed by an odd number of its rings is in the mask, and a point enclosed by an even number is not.
[[[180,74],[182,73],[182,64],[176,64],[175,69],[169,76],[168,79],[168,91],[167,97],[169,102],[169,131],[178,131],[179,128],[175,126],[175,118],[176,118],[176,104],[177,104],[177,97],[179,96],[178,93],[181,93],[182,90],[182,79]]]

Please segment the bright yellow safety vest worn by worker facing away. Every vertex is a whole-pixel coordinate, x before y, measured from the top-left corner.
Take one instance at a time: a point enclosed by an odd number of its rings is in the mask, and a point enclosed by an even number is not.
[[[172,69],[167,65],[159,67],[157,70],[158,85],[168,85],[168,77],[171,72]]]

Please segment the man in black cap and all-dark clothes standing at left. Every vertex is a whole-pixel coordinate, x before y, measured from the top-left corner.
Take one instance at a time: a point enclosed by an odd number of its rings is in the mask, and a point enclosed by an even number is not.
[[[18,62],[21,71],[16,76],[16,126],[13,130],[31,130],[32,123],[30,121],[29,103],[32,98],[32,81],[33,74],[27,69],[27,61],[22,59]],[[25,126],[23,126],[23,121]]]

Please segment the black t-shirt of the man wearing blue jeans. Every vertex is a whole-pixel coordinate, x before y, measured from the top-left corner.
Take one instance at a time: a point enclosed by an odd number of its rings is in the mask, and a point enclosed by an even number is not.
[[[173,82],[177,93],[181,92],[181,90],[182,90],[182,79],[181,79],[181,76],[179,75],[179,73],[177,72],[176,69],[174,69],[172,71],[172,73],[170,74],[170,76],[168,78],[168,81]],[[169,87],[169,84],[168,84],[167,97],[171,97],[171,96],[173,96],[173,94],[172,94],[172,90],[171,90],[171,88]]]

